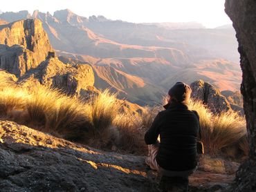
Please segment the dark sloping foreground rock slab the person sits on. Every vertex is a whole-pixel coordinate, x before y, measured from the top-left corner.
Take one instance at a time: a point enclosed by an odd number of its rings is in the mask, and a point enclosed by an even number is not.
[[[201,160],[190,191],[225,189],[237,164]],[[161,191],[145,157],[74,144],[14,122],[0,121],[1,191]]]

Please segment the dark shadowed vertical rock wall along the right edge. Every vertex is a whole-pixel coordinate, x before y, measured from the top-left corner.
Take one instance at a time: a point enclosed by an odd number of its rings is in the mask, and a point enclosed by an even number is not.
[[[237,171],[230,191],[256,191],[256,3],[254,0],[226,0],[225,7],[239,42],[243,72],[241,93],[250,147],[249,158]]]

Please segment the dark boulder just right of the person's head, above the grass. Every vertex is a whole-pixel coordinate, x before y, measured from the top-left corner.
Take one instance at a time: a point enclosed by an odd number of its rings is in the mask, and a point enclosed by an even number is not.
[[[206,104],[213,113],[230,110],[230,104],[226,97],[221,95],[219,90],[202,80],[194,81],[190,85],[192,89],[192,98],[199,99]]]

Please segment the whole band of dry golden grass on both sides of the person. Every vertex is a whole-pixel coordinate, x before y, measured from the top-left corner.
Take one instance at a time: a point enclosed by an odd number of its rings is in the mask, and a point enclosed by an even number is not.
[[[161,106],[145,107],[141,113],[122,111],[122,101],[109,90],[82,102],[60,92],[37,86],[27,90],[15,79],[0,72],[0,115],[20,124],[37,128],[68,140],[128,153],[146,154],[145,131],[151,126]],[[166,99],[165,99],[166,100]],[[199,101],[191,101],[191,110],[199,113],[206,153],[248,155],[246,122],[234,111],[214,115]],[[227,152],[236,148],[236,152]],[[229,150],[230,151],[230,150]],[[232,151],[232,150],[231,150]]]

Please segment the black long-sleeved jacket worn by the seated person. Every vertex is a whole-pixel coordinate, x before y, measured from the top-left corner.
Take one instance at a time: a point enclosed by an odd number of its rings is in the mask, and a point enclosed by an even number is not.
[[[187,171],[197,165],[196,136],[199,119],[184,104],[172,102],[158,113],[145,134],[146,144],[154,144],[160,134],[160,148],[156,162],[163,169]]]

